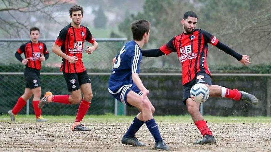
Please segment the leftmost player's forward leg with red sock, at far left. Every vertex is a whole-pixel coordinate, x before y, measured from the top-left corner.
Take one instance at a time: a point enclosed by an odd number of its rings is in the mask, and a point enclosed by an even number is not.
[[[8,114],[11,117],[11,121],[15,121],[15,115],[17,115],[17,113],[22,110],[22,108],[26,105],[26,101],[30,99],[31,96],[32,92],[30,88],[25,88],[24,94],[17,100],[17,103],[12,108],[12,110],[8,111]]]

